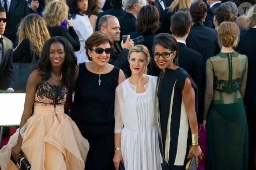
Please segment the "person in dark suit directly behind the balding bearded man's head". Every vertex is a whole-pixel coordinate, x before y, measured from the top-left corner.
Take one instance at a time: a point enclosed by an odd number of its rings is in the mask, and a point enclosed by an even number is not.
[[[113,16],[119,18],[126,13],[126,11],[124,11],[122,0],[111,0],[111,6],[112,6],[111,9],[99,13],[97,21],[96,21],[96,31],[98,31],[98,22],[99,22],[100,18],[102,18],[102,16],[113,15]]]

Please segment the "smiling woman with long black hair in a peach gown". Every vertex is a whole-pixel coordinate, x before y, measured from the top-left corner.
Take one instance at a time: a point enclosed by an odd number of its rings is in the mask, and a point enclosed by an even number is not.
[[[20,129],[0,150],[2,170],[17,170],[10,156],[19,163],[20,153],[31,170],[84,170],[88,140],[64,114],[68,90],[75,87],[77,67],[67,39],[52,37],[45,42],[26,85]]]

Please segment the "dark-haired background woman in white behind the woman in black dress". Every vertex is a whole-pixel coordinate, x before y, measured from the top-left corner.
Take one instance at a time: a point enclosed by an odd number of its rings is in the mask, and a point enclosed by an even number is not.
[[[69,13],[73,19],[73,27],[79,37],[80,50],[75,52],[77,63],[89,62],[85,52],[85,41],[93,33],[88,15],[86,15],[88,0],[67,0]]]

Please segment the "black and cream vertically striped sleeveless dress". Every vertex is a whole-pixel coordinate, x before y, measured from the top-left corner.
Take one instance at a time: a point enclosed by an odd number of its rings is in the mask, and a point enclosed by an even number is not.
[[[155,109],[159,146],[163,158],[171,170],[184,170],[187,163],[189,145],[192,143],[188,115],[182,91],[188,73],[181,67],[167,69],[159,74],[156,87]],[[197,112],[197,87],[190,78],[195,91]]]

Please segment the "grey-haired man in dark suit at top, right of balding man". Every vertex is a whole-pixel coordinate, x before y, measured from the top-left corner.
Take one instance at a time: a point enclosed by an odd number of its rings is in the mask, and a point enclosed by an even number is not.
[[[126,14],[118,18],[120,24],[120,37],[128,35],[136,31],[136,18],[137,13],[143,6],[143,0],[123,0],[123,6],[126,10]],[[121,43],[121,41],[120,41]]]

